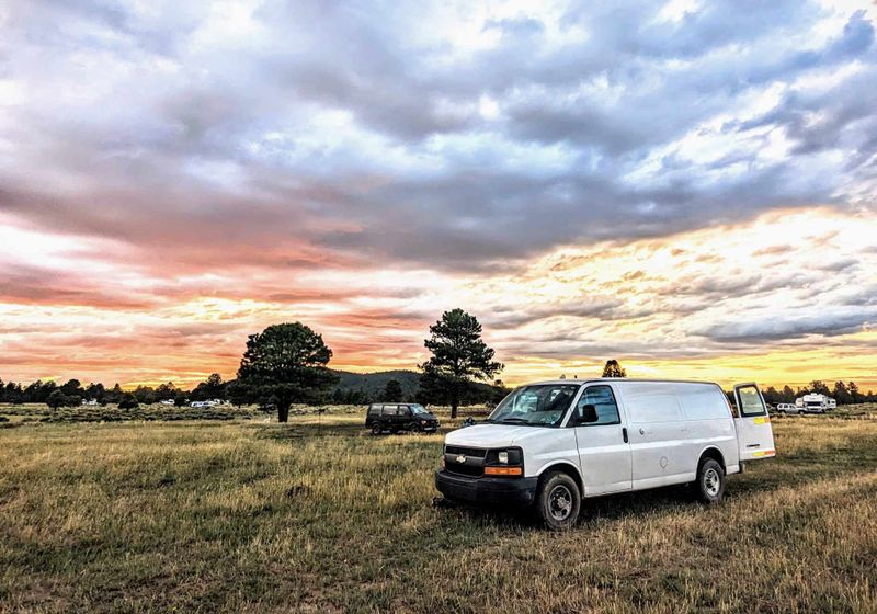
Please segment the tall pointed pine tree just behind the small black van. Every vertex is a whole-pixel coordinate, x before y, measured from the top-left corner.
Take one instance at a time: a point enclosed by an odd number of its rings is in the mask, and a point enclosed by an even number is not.
[[[503,368],[481,339],[481,325],[463,309],[442,314],[423,344],[432,357],[420,365],[421,396],[429,397],[428,402],[446,399],[452,418],[457,417],[460,398],[474,382],[490,379]]]

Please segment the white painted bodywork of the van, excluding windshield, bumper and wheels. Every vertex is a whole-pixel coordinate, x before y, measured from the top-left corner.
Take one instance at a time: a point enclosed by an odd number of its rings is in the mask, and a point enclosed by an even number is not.
[[[568,379],[537,384],[560,383],[571,384]],[[559,464],[571,466],[584,487],[584,497],[694,481],[708,450],[721,455],[727,474],[740,471],[740,451],[747,445],[740,437],[752,433],[745,424],[736,423],[738,419],[717,384],[622,378],[580,384],[560,427],[476,424],[452,431],[445,444],[520,447],[525,477],[539,476]],[[612,389],[620,422],[573,427],[579,399],[588,387],[597,385]],[[760,421],[759,436],[765,432],[770,442],[763,445],[772,448],[770,419]]]

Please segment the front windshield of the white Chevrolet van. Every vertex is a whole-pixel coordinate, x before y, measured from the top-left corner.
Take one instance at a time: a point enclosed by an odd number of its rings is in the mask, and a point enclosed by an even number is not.
[[[513,390],[488,417],[496,424],[557,427],[563,420],[579,384],[538,384]]]

